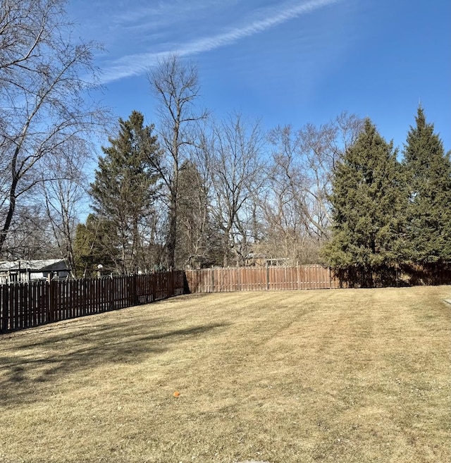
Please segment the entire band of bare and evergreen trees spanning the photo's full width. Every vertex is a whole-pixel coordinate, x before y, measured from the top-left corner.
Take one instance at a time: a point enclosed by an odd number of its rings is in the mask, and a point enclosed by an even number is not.
[[[365,285],[450,261],[450,154],[422,108],[402,152],[348,113],[264,132],[199,109],[197,68],[169,56],[147,74],[154,124],[111,127],[63,6],[0,8],[1,259],[64,257],[74,276],[273,259]]]

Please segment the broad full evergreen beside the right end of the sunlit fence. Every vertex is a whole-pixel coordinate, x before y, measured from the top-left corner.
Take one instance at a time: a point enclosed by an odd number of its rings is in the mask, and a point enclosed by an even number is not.
[[[351,283],[376,284],[375,276],[385,278],[402,254],[405,202],[396,154],[366,119],[335,170],[332,237],[322,254]]]

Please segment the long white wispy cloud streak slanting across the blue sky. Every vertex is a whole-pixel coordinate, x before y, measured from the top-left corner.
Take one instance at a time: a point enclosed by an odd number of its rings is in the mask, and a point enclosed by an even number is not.
[[[245,25],[234,27],[233,29],[220,34],[211,35],[194,39],[186,44],[166,44],[158,52],[144,52],[122,56],[115,61],[104,66],[102,81],[104,83],[113,82],[132,75],[141,75],[149,67],[154,66],[160,58],[167,54],[177,53],[180,56],[192,56],[204,53],[220,47],[235,44],[241,39],[264,32],[271,27],[276,27],[289,20],[306,15],[319,10],[330,4],[338,3],[340,0],[309,0],[302,4],[289,4],[280,9],[272,8],[267,10],[266,16],[259,19],[252,19]],[[161,47],[160,47],[161,48]]]

